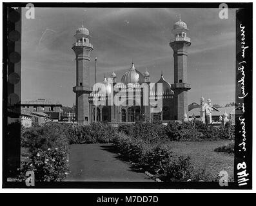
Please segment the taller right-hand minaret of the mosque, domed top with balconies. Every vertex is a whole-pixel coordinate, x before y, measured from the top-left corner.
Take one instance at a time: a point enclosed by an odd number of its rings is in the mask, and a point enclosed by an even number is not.
[[[186,36],[188,28],[186,23],[181,21],[181,18],[174,24],[172,33],[174,38],[170,42],[173,49],[174,57],[174,84],[172,90],[174,91],[174,118],[175,120],[182,120],[184,114],[188,113],[188,69],[187,69],[187,49],[190,46],[190,38]]]

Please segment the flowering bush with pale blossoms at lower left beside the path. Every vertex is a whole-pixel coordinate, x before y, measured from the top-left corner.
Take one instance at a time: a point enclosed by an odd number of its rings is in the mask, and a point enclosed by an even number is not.
[[[26,171],[34,171],[35,182],[61,181],[68,174],[68,160],[64,149],[38,149],[28,156],[21,169],[21,178],[26,179]]]

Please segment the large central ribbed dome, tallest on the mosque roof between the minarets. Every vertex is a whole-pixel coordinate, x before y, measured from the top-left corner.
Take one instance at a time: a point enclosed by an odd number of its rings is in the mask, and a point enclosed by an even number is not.
[[[144,77],[141,72],[135,69],[134,64],[132,63],[132,67],[129,71],[124,73],[121,82],[124,84],[142,84],[144,82]]]

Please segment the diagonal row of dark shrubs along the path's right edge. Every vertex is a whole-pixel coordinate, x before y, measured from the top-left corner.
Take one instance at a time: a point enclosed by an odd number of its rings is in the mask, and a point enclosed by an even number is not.
[[[173,156],[166,145],[148,144],[140,138],[120,133],[113,139],[113,145],[124,159],[139,164],[162,180],[183,180],[189,174],[190,158]]]

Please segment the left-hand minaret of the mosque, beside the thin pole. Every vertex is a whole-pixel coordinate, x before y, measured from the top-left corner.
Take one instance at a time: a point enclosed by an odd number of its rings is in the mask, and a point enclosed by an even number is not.
[[[72,50],[75,52],[76,61],[76,84],[73,87],[75,93],[75,117],[79,124],[84,124],[90,120],[89,93],[92,92],[90,87],[90,53],[93,46],[90,43],[89,31],[82,26],[75,33],[76,42]]]

